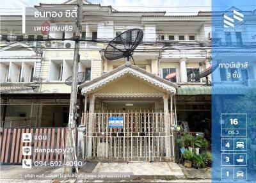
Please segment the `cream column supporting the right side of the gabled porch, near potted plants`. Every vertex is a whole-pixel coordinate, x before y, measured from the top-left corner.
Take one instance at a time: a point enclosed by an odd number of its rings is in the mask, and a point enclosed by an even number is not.
[[[171,159],[170,114],[169,114],[169,109],[168,109],[168,95],[167,94],[164,94],[163,100],[164,100],[164,130],[166,132],[165,153],[166,153],[166,158]]]

